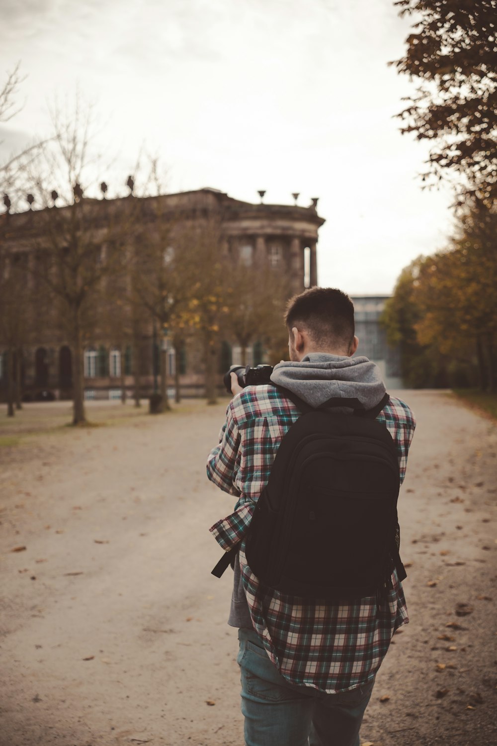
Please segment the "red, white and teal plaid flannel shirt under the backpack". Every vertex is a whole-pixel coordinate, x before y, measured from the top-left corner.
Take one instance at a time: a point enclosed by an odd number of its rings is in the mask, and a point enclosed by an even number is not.
[[[238,502],[210,530],[225,551],[241,542],[238,558],[253,627],[282,676],[322,692],[345,692],[374,677],[393,633],[408,622],[396,571],[384,598],[332,605],[268,588],[250,571],[244,554],[244,536],[279,443],[299,416],[295,404],[273,386],[247,386],[232,399],[220,443],[209,454],[207,474]],[[376,419],[386,424],[396,443],[402,483],[416,424],[413,413],[392,397]]]

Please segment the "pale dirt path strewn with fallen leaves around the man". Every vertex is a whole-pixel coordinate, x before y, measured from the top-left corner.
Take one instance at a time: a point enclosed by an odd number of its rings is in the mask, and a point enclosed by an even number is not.
[[[404,396],[411,624],[361,741],[494,745],[497,428],[441,392]],[[205,477],[223,418],[199,402],[39,437],[1,463],[1,746],[241,746],[231,577],[210,574],[207,530],[232,506]]]

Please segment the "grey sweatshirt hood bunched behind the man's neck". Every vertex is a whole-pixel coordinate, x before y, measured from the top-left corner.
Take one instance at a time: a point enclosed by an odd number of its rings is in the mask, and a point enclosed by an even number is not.
[[[311,407],[331,399],[357,398],[370,410],[384,397],[382,374],[367,357],[343,357],[311,352],[300,363],[278,363],[271,379],[277,386],[297,394]],[[350,412],[349,407],[337,407],[336,412]]]

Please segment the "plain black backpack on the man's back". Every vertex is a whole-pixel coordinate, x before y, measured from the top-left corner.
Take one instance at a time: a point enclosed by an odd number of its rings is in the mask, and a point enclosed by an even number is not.
[[[270,588],[332,603],[355,601],[406,577],[399,557],[399,462],[387,427],[358,399],[313,409],[277,386],[303,414],[282,438],[247,532],[250,569]],[[351,407],[353,415],[330,412]],[[228,555],[235,554],[238,547]],[[223,557],[213,574],[221,575]]]

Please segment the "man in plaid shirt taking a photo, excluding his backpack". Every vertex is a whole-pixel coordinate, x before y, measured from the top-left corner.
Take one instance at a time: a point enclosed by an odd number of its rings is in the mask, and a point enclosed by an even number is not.
[[[312,407],[332,397],[358,398],[367,410],[382,401],[379,369],[366,357],[352,357],[358,339],[352,301],[344,292],[306,290],[289,301],[285,323],[290,362],[275,366],[273,383]],[[408,622],[402,585],[394,570],[392,588],[381,597],[334,605],[285,595],[255,577],[245,558],[244,536],[279,443],[300,411],[274,386],[241,389],[235,374],[232,393],[207,474],[238,497],[234,513],[211,531],[225,551],[241,542],[228,624],[238,627],[245,742],[358,746],[376,671],[393,633]],[[338,411],[352,416],[346,407]],[[402,482],[414,416],[390,397],[376,419],[396,444]]]

